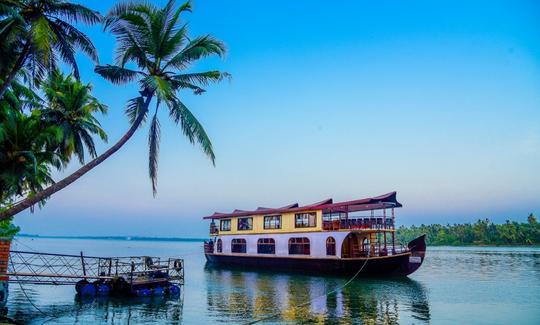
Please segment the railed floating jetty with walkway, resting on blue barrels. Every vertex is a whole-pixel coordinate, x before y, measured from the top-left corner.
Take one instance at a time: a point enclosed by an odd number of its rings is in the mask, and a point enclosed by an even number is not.
[[[74,285],[82,296],[174,296],[184,284],[184,260],[11,251],[5,276],[9,282]]]

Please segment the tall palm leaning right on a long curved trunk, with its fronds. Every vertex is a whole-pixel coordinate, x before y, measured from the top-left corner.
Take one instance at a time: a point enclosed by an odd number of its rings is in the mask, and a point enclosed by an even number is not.
[[[214,163],[212,144],[204,128],[191,111],[178,98],[183,89],[201,94],[202,88],[211,82],[228,77],[219,71],[180,73],[199,59],[225,54],[225,46],[210,35],[189,39],[187,26],[180,24],[180,14],[191,11],[190,2],[174,9],[174,1],[163,8],[149,3],[124,2],[117,4],[105,19],[105,28],[110,30],[119,43],[116,50],[116,65],[97,66],[96,72],[115,84],[137,80],[139,96],[129,100],[126,113],[131,127],[120,140],[102,155],[88,162],[73,174],[51,185],[47,189],[28,197],[14,206],[0,211],[0,219],[9,218],[50,195],[65,188],[118,151],[146,121],[152,99],[155,110],[149,132],[149,174],[154,195],[157,190],[157,162],[160,127],[158,112],[161,104],[167,107],[169,116],[179,124],[191,143],[201,145],[205,154]],[[133,63],[137,69],[126,68]]]

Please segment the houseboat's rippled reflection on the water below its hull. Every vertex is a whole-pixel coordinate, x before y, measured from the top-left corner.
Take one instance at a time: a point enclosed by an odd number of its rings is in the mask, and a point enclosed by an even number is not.
[[[362,278],[340,289],[347,279],[215,267],[205,272],[208,313],[223,322],[244,323],[266,317],[269,322],[285,323],[430,321],[426,290],[409,278]]]

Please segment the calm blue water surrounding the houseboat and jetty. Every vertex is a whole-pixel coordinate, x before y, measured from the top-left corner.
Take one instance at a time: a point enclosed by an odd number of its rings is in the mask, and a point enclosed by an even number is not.
[[[20,238],[13,249],[28,247],[184,256],[186,285],[180,299],[79,301],[72,286],[11,284],[8,316],[23,323],[540,324],[540,248],[430,247],[408,278],[358,279],[323,296],[348,279],[205,268],[199,242]]]

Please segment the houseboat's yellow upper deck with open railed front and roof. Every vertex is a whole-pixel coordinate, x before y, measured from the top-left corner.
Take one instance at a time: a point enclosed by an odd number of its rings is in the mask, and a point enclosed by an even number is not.
[[[332,199],[299,206],[234,210],[214,213],[211,235],[302,233],[322,231],[394,231],[394,208],[401,207],[396,192],[333,203]],[[389,211],[388,211],[389,210]]]

